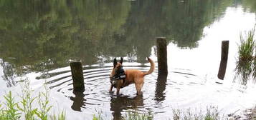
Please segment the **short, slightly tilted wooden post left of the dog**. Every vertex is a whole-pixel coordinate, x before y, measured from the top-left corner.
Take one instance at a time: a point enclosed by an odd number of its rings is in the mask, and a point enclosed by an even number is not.
[[[75,91],[82,91],[85,89],[84,85],[84,76],[82,74],[82,63],[81,62],[72,62],[70,63],[72,79],[73,79],[73,88]]]

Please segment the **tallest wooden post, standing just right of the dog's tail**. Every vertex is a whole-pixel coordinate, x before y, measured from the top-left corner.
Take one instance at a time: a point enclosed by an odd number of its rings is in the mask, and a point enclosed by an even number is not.
[[[156,39],[157,46],[157,61],[158,61],[158,76],[168,74],[167,66],[167,45],[166,39],[159,37]]]

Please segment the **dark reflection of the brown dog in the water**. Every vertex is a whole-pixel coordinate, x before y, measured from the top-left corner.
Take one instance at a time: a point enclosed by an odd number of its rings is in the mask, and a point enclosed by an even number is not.
[[[113,96],[110,100],[110,111],[113,111],[113,119],[122,119],[121,112],[127,109],[136,109],[138,106],[143,106],[143,95],[135,96]]]

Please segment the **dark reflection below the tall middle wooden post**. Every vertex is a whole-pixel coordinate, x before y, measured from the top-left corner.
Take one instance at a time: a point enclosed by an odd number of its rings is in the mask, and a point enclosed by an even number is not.
[[[155,100],[156,101],[163,101],[166,98],[165,93],[163,93],[166,90],[166,81],[167,81],[167,75],[166,76],[158,76],[157,82],[156,82],[156,91],[155,91]]]

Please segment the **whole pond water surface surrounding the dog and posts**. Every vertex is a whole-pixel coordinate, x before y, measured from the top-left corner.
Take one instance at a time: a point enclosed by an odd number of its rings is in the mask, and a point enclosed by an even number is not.
[[[120,119],[136,109],[171,119],[172,109],[218,106],[222,114],[254,107],[253,79],[235,78],[240,34],[256,24],[255,0],[1,0],[0,95],[49,88],[54,111],[67,119]],[[158,67],[145,76],[143,96],[134,85],[108,92],[113,59],[124,69],[148,71],[157,63],[156,37],[168,42],[167,78]],[[224,80],[217,73],[221,44],[229,40]],[[70,61],[82,61],[85,91],[73,92]],[[3,99],[1,97],[0,99]]]

